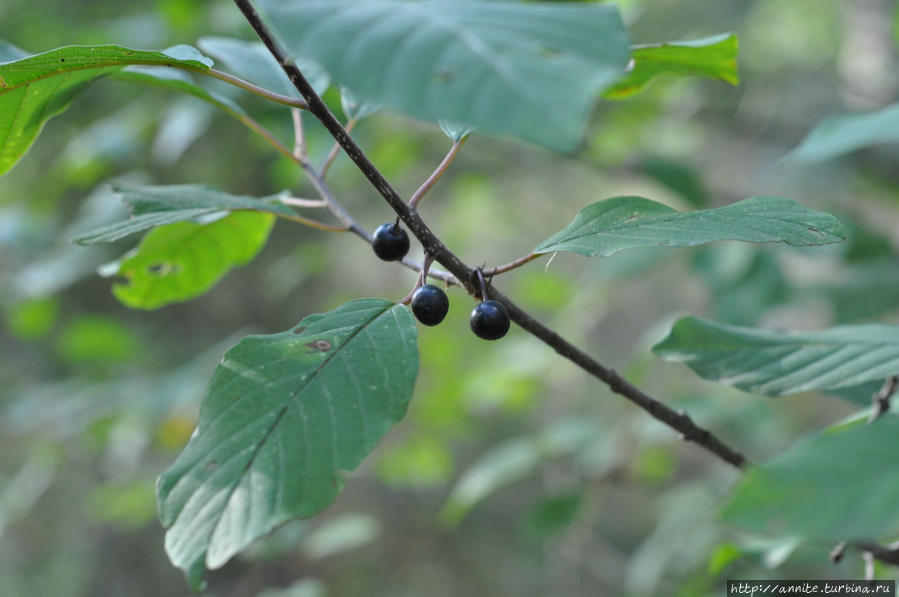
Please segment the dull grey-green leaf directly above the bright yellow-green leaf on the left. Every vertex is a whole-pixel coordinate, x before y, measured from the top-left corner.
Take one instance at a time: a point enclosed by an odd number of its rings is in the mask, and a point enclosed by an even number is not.
[[[133,217],[82,234],[72,242],[109,243],[148,228],[240,210],[294,215],[293,210],[279,201],[280,195],[256,199],[229,195],[207,185],[115,185],[113,191],[128,205]]]

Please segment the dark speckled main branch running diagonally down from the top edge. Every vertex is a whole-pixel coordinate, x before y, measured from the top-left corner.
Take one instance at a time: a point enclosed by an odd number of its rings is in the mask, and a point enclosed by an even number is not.
[[[403,220],[409,228],[409,231],[421,242],[425,252],[433,255],[435,261],[449,270],[456,279],[465,286],[469,294],[476,295],[478,291],[475,288],[476,280],[473,277],[474,270],[462,262],[455,253],[450,251],[443,244],[443,241],[441,241],[427,224],[425,224],[421,217],[419,217],[416,210],[411,209],[406,205],[396,190],[384,178],[371,160],[368,159],[368,156],[365,155],[362,149],[347,134],[346,130],[340,125],[340,121],[337,120],[315,90],[312,89],[296,64],[287,58],[286,53],[278,42],[275,41],[274,37],[272,37],[268,28],[263,24],[262,19],[260,19],[249,0],[234,0],[234,3],[244,14],[247,22],[249,22],[256,31],[259,39],[262,40],[281,65],[284,72],[287,73],[288,78],[297,88],[297,91],[299,91],[300,95],[306,99],[309,111],[322,123],[328,132],[331,133],[331,136],[340,144],[347,156],[359,168],[360,172],[362,172],[362,174],[369,180],[390,207],[393,208],[400,219]],[[615,371],[608,369],[593,360],[580,349],[559,336],[556,332],[547,328],[522,311],[521,308],[509,300],[508,297],[492,286],[488,289],[488,293],[490,298],[498,300],[506,306],[512,321],[516,322],[523,329],[552,347],[563,357],[604,382],[613,392],[627,398],[643,408],[651,416],[674,428],[680,433],[683,439],[695,442],[735,467],[741,468],[747,464],[746,458],[742,454],[726,445],[710,431],[698,427],[683,411],[675,411],[655,398],[643,393],[641,390],[625,381],[621,376],[615,373]]]

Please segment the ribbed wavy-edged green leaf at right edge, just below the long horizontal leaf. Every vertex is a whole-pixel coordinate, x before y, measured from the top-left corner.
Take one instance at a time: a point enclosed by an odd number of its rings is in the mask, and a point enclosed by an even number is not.
[[[653,351],[703,379],[769,396],[899,375],[899,327],[891,325],[791,334],[684,317]]]

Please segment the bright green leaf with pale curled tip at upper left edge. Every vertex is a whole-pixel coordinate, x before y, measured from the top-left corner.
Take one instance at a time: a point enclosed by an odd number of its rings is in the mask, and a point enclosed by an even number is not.
[[[0,64],[0,175],[25,155],[44,123],[88,84],[134,64],[204,71],[212,61],[189,46],[159,52],[67,46]]]

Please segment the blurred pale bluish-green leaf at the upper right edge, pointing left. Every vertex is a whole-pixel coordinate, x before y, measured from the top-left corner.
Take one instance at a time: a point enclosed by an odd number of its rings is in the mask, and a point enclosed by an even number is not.
[[[784,158],[785,163],[812,163],[879,143],[899,141],[899,104],[864,114],[825,118]]]

